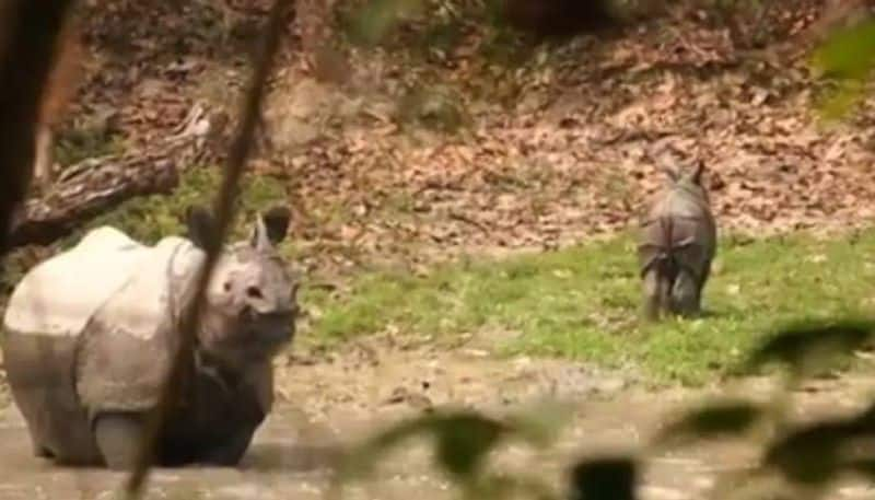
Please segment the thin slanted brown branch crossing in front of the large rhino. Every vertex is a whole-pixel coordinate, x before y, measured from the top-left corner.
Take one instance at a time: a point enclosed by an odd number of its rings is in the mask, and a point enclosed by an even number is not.
[[[268,25],[260,50],[255,56],[255,66],[242,105],[241,121],[234,142],[231,144],[225,163],[224,178],[221,189],[214,200],[213,210],[217,225],[213,239],[207,245],[207,259],[200,269],[197,281],[197,292],[192,303],[186,307],[179,328],[179,341],[171,373],[164,384],[161,398],[154,411],[150,415],[145,434],[140,446],[137,464],[126,485],[128,498],[139,498],[149,474],[151,463],[156,451],[156,441],[163,429],[166,417],[171,414],[179,391],[185,381],[189,362],[196,342],[196,332],[200,313],[203,307],[205,289],[209,283],[220,249],[228,234],[234,213],[234,201],[237,195],[237,184],[243,173],[246,159],[252,150],[255,128],[258,123],[261,101],[265,94],[265,84],[270,73],[271,62],[279,46],[280,31],[284,24],[284,14],[291,0],[275,0],[270,10]]]

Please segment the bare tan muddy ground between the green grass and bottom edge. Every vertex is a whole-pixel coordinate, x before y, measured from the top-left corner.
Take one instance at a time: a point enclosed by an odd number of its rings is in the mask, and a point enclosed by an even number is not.
[[[279,369],[273,414],[236,468],[162,469],[152,476],[152,499],[317,499],[326,491],[338,452],[364,432],[429,407],[470,406],[499,412],[537,404],[544,396],[580,403],[558,445],[533,451],[509,444],[495,464],[535,473],[561,485],[563,467],[581,456],[634,452],[664,418],[716,391],[768,397],[772,382],[746,380],[722,388],[648,391],[635,376],[600,372],[567,361],[495,359],[464,347],[353,344],[329,354],[298,357]],[[871,376],[820,381],[795,395],[807,418],[859,407],[873,387]],[[14,406],[0,418],[0,498],[110,498],[124,476],[96,469],[55,467],[28,454],[25,429]],[[709,498],[721,472],[751,464],[756,450],[743,442],[713,443],[651,456],[641,498]],[[381,465],[378,478],[346,490],[346,498],[422,500],[453,498],[445,477],[429,466],[428,451],[411,444]],[[829,498],[873,498],[862,482],[837,485]]]

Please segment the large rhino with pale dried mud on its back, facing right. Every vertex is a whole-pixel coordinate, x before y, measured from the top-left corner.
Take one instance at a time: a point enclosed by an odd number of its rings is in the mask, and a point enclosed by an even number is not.
[[[214,237],[206,209],[190,208],[187,224],[188,237],[154,246],[95,229],[15,287],[2,349],[36,455],[133,464]],[[288,209],[273,209],[249,239],[222,249],[158,464],[234,465],[270,411],[271,361],[291,342],[298,313],[298,284],[276,251],[288,224]]]

